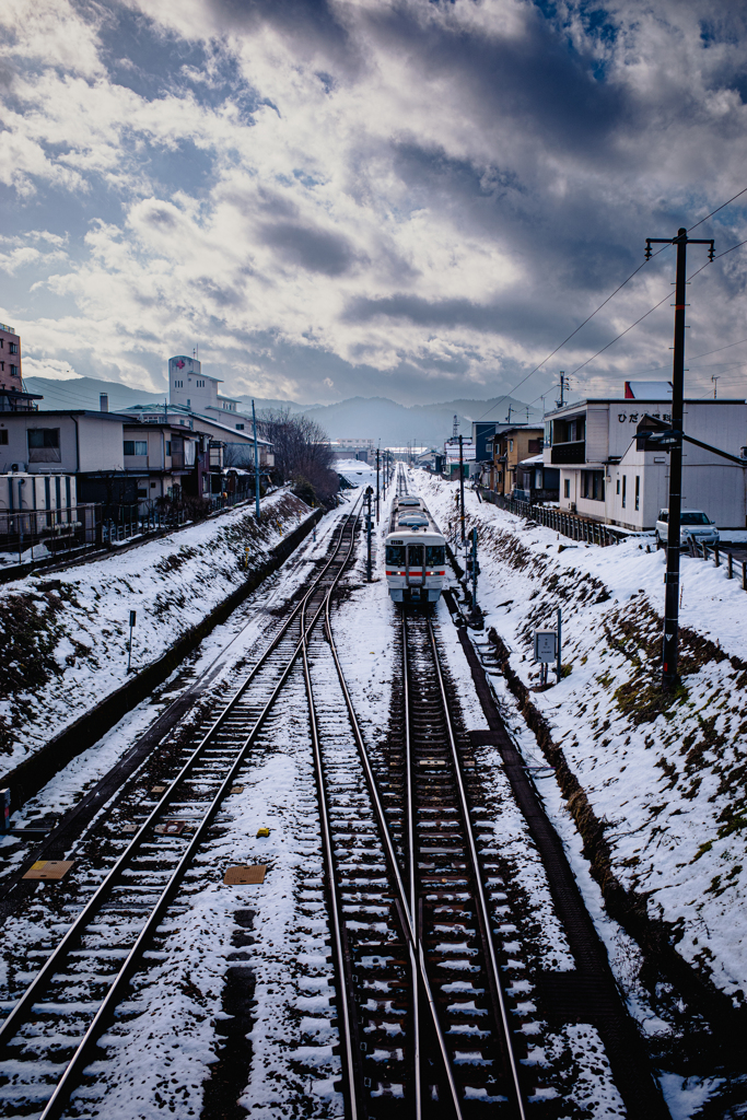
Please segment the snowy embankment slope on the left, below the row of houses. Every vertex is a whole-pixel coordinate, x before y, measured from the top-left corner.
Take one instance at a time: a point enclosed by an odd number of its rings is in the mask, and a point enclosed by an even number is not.
[[[136,549],[0,588],[0,776],[161,657],[310,515],[288,491]],[[59,589],[49,584],[59,581]],[[45,589],[46,588],[46,589]]]

